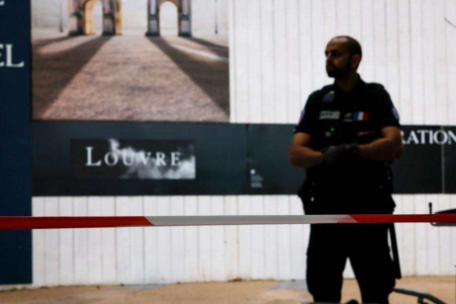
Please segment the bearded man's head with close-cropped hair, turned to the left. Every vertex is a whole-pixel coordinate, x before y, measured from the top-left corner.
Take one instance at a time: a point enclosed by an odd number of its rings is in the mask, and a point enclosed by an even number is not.
[[[326,46],[326,72],[335,79],[355,73],[362,57],[361,45],[349,36],[336,36]]]

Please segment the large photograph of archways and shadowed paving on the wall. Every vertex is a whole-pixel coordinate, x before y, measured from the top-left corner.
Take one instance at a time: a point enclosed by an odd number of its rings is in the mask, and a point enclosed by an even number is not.
[[[229,0],[31,0],[33,120],[229,122]]]

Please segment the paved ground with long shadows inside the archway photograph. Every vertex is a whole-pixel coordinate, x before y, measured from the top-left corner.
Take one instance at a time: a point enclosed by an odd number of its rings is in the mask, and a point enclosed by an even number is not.
[[[227,40],[33,29],[33,119],[228,122]]]

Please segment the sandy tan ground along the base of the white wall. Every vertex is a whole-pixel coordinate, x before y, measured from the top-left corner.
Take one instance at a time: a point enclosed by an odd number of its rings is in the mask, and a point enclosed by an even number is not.
[[[454,276],[407,277],[398,287],[431,293],[456,302]],[[342,300],[360,300],[355,280],[345,280]],[[392,293],[391,304],[417,303],[417,297]],[[172,285],[54,287],[0,292],[0,303],[25,304],[298,304],[311,302],[305,281],[241,281]],[[427,301],[431,303],[430,301]]]

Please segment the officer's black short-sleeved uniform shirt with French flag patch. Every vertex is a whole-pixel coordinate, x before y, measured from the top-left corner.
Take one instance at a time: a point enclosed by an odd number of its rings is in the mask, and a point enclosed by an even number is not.
[[[382,85],[360,78],[350,93],[333,84],[309,96],[294,132],[311,135],[310,147],[321,150],[342,143],[368,143],[385,127],[400,127],[397,111]],[[330,168],[318,165],[307,170],[308,178],[322,191],[371,192],[390,187],[389,165],[353,158]],[[390,190],[388,190],[390,191]]]

